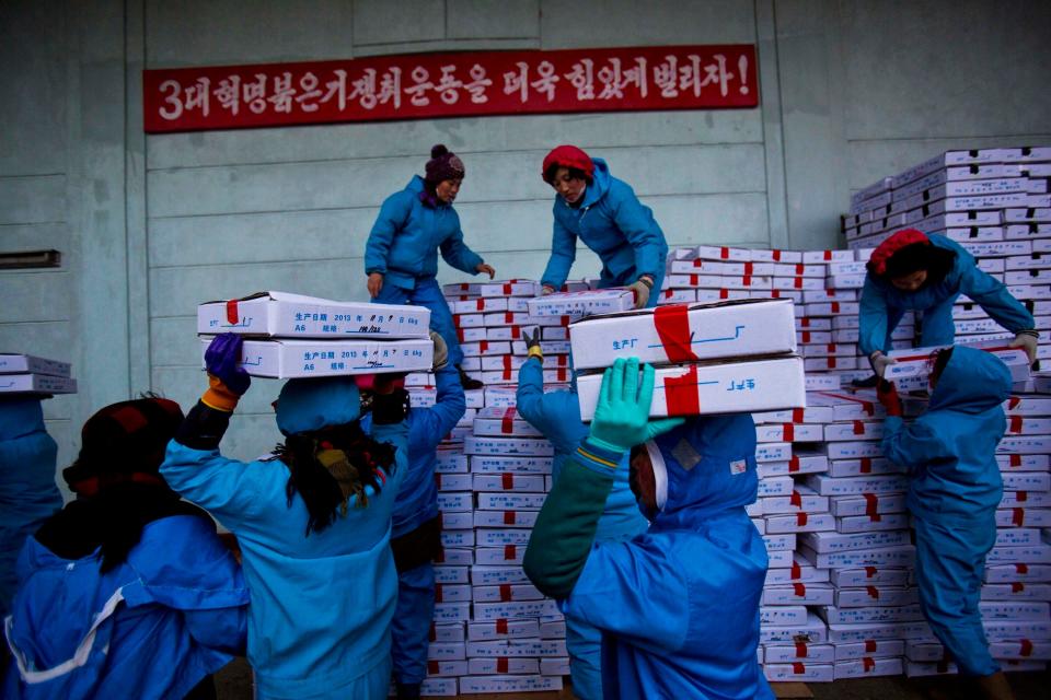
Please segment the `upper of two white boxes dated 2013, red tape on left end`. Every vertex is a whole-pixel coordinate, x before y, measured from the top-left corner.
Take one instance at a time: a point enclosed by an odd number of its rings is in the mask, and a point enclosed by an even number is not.
[[[197,332],[236,332],[276,338],[426,338],[430,310],[424,306],[337,302],[331,299],[257,292],[197,307]]]

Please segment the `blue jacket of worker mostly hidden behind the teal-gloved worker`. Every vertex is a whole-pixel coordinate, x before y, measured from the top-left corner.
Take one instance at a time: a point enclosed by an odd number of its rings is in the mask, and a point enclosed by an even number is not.
[[[576,392],[545,393],[543,365],[540,360],[530,358],[518,372],[516,404],[519,416],[555,446],[553,476],[557,480],[580,441],[588,436],[588,427],[580,420],[580,399]],[[627,456],[623,462],[623,468],[613,475],[613,491],[599,518],[596,533],[599,540],[630,539],[647,527],[627,482]]]

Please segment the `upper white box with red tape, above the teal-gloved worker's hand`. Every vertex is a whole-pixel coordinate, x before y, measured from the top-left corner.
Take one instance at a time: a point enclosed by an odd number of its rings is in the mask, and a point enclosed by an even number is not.
[[[574,322],[569,341],[577,370],[617,358],[678,363],[795,352],[795,313],[788,300],[669,304]]]

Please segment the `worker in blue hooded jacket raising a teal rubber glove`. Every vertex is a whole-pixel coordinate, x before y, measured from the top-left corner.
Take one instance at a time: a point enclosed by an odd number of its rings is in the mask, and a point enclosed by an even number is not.
[[[759,668],[766,549],[744,506],[755,500],[751,416],[648,418],[654,370],[605,371],[588,436],[541,509],[524,569],[567,618],[602,630],[605,698],[773,698]],[[594,533],[631,454],[649,530]]]

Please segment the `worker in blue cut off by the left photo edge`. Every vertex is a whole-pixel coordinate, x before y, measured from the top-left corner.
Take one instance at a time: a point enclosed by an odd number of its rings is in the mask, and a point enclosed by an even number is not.
[[[58,445],[44,427],[41,399],[0,397],[0,619],[7,617],[14,596],[22,545],[62,508],[55,486],[57,455]]]

